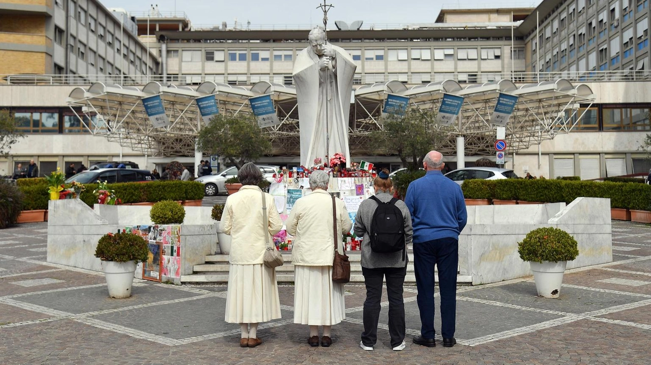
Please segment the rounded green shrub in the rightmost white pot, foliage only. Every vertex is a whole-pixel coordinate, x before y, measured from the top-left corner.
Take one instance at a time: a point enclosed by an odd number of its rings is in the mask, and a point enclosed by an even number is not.
[[[574,237],[554,227],[537,228],[518,242],[518,253],[525,261],[572,261],[579,255]]]

